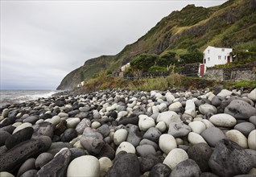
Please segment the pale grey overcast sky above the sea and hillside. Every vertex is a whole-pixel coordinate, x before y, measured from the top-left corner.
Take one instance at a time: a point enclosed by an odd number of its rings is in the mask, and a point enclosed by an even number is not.
[[[1,0],[1,89],[56,89],[85,60],[117,54],[171,11],[223,2]]]

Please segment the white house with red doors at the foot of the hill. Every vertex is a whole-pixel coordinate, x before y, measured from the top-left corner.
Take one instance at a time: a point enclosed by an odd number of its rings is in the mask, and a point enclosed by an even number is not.
[[[232,62],[230,52],[232,52],[232,48],[207,47],[204,50],[203,64],[200,64],[200,76],[204,75],[207,67],[213,67],[217,64],[229,64]]]

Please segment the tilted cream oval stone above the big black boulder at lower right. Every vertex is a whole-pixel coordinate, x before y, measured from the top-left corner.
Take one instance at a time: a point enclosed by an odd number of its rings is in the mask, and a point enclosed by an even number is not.
[[[233,142],[237,142],[239,146],[246,149],[248,148],[247,138],[238,130],[229,130],[225,133],[225,136],[232,140]]]

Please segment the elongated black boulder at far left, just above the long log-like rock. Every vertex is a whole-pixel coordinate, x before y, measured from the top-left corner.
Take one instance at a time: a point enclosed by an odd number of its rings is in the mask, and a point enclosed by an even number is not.
[[[34,132],[32,127],[26,127],[23,130],[11,134],[9,138],[6,139],[6,148],[10,150],[12,147],[18,145],[20,142],[29,140]]]

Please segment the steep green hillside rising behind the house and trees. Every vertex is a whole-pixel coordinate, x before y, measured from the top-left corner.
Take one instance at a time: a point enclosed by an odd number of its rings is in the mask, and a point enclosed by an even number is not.
[[[93,74],[119,68],[142,53],[161,55],[167,51],[177,54],[209,46],[233,49],[256,48],[256,1],[229,0],[210,8],[185,6],[164,17],[138,41],[127,45],[116,56],[100,56],[87,60],[83,66],[70,72],[58,89],[70,89]]]

